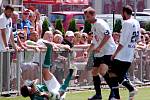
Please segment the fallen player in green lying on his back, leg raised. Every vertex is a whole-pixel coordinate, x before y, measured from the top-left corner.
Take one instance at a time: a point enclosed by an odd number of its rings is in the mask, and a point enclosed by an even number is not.
[[[33,81],[32,84],[23,85],[21,87],[21,95],[23,97],[29,96],[31,100],[62,100],[64,99],[65,91],[71,80],[73,69],[69,69],[69,74],[64,83],[60,85],[55,76],[49,70],[52,67],[52,45],[48,42],[44,42],[44,44],[47,46],[42,69],[45,85],[35,84],[35,81]]]

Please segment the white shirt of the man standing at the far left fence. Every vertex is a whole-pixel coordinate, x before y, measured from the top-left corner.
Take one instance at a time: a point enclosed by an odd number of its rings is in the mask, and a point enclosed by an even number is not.
[[[8,43],[9,39],[10,39],[11,31],[12,31],[12,19],[11,18],[6,18],[4,13],[0,16],[0,50],[4,50],[5,45],[4,45],[4,42],[2,40],[1,29],[6,30],[5,31],[5,33],[6,33],[6,42]]]

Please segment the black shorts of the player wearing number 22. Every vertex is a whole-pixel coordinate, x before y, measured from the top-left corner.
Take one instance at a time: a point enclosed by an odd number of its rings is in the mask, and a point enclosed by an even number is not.
[[[116,73],[118,76],[126,77],[129,67],[131,66],[131,62],[120,61],[114,59],[112,61],[111,71]]]

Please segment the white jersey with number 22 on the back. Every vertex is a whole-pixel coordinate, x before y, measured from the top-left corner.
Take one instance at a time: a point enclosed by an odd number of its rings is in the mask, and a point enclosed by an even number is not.
[[[136,19],[128,19],[122,25],[120,34],[120,44],[123,48],[116,55],[115,59],[120,61],[132,62],[134,58],[135,47],[140,39],[140,24]]]

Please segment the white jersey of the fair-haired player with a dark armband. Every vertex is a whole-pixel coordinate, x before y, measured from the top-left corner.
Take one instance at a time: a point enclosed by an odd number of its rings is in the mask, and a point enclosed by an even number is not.
[[[102,57],[104,55],[112,55],[116,50],[116,44],[112,37],[112,32],[110,31],[109,25],[102,19],[97,19],[95,23],[92,24],[94,48],[97,48],[105,35],[110,35],[107,43],[102,47],[99,53],[95,53],[94,57]]]

